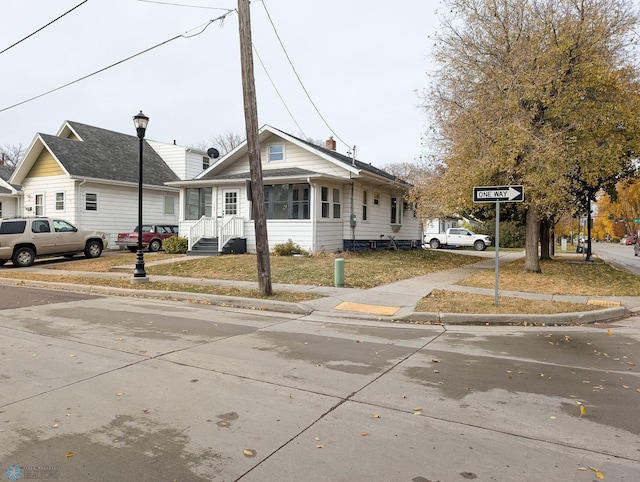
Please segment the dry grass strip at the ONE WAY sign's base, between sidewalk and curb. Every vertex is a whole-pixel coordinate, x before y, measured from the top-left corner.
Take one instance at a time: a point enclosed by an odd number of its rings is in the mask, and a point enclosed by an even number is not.
[[[478,313],[478,314],[537,314],[573,313],[576,311],[592,311],[599,306],[564,303],[559,301],[529,300],[523,298],[495,297],[462,293],[458,291],[434,290],[429,296],[422,298],[416,311],[429,313]]]

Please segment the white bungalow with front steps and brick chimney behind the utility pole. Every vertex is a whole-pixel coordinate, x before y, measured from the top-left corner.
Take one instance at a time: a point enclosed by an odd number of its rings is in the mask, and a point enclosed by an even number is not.
[[[371,164],[270,126],[260,129],[269,248],[288,240],[310,252],[411,249],[421,220],[404,202],[406,183]],[[180,188],[180,234],[189,251],[202,245],[255,252],[246,141]],[[240,248],[241,250],[242,248]]]

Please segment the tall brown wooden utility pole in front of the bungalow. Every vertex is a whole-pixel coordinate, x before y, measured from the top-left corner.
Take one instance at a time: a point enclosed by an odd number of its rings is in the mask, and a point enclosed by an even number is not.
[[[258,140],[258,106],[255,78],[253,76],[253,45],[251,42],[249,0],[238,0],[238,18],[240,23],[240,63],[242,65],[244,119],[247,130],[251,202],[253,205],[256,254],[258,258],[258,288],[261,294],[271,296],[273,289],[271,287],[267,215],[264,208],[264,183],[262,181],[262,162],[260,161],[260,142]]]

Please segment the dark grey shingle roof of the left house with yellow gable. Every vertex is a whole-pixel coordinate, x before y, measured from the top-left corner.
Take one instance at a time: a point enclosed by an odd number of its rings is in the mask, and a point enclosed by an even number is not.
[[[42,150],[47,149],[71,178],[137,183],[139,146],[137,136],[66,121],[57,136],[36,136],[12,180],[22,183]],[[164,186],[167,181],[179,180],[146,141],[143,169],[146,185]]]

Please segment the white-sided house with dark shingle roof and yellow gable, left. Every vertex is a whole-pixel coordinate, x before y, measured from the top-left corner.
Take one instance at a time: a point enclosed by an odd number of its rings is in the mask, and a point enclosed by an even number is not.
[[[23,190],[18,214],[56,216],[82,229],[99,229],[114,245],[117,233],[138,224],[139,146],[135,135],[72,121],[55,136],[37,134],[10,178]],[[201,172],[203,155],[155,141],[143,146],[143,221],[177,224],[179,190],[165,183]]]

